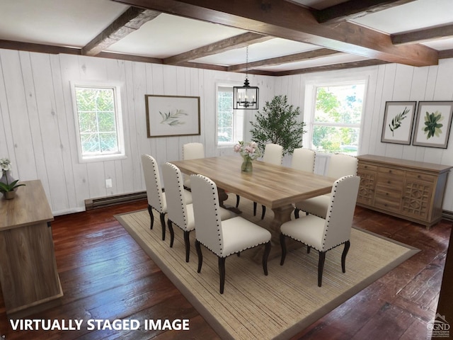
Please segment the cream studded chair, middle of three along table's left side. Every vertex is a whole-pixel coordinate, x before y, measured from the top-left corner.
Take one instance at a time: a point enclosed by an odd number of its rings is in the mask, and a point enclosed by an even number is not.
[[[173,225],[176,225],[184,232],[185,261],[189,261],[190,242],[189,235],[195,229],[192,203],[185,202],[185,189],[183,186],[183,174],[178,166],[165,163],[162,164],[162,177],[164,178],[165,197],[167,203],[167,225],[170,231],[170,247],[173,246],[175,234]],[[219,208],[221,220],[228,220],[234,214],[230,210]]]

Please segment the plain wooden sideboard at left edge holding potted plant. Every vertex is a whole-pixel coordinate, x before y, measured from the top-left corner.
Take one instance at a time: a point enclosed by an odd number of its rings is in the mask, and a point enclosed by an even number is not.
[[[8,317],[42,310],[63,296],[41,181],[23,181],[16,198],[0,199],[0,283]]]

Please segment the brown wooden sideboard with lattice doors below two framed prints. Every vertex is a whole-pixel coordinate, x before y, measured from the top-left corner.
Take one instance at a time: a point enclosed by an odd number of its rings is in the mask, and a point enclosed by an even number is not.
[[[442,200],[452,166],[370,154],[357,158],[357,205],[428,228],[442,219]]]

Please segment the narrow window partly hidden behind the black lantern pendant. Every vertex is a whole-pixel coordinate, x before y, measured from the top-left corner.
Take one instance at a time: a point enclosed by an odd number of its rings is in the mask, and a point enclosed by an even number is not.
[[[243,110],[233,111],[233,86],[217,87],[217,145],[243,140]]]

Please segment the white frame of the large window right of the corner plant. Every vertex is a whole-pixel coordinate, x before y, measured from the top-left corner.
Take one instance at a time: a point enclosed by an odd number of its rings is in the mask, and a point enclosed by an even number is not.
[[[368,82],[369,77],[353,77],[353,78],[343,78],[343,79],[332,79],[331,81],[311,81],[308,82],[305,86],[305,105],[304,105],[304,112],[309,113],[306,115],[305,123],[307,126],[307,133],[304,134],[303,138],[303,145],[307,145],[307,147],[311,147],[311,141],[313,140],[313,130],[315,125],[323,125],[323,126],[333,126],[333,127],[345,127],[345,128],[359,128],[360,129],[360,137],[357,144],[357,154],[360,154],[360,145],[362,144],[363,138],[363,129],[365,127],[365,108],[366,108],[366,100],[367,100],[367,89],[368,89]],[[315,123],[315,114],[316,114],[316,91],[319,87],[328,87],[328,86],[347,86],[350,84],[357,84],[357,83],[364,83],[364,93],[363,93],[363,101],[362,101],[362,114],[360,118],[360,125],[359,124],[336,124],[336,123]]]

